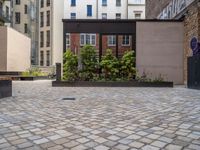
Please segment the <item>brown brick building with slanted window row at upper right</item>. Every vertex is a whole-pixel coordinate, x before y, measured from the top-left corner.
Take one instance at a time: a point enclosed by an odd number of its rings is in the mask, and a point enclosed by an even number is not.
[[[184,24],[184,80],[187,81],[187,58],[193,55],[192,38],[200,40],[199,0],[146,0],[146,18],[181,19]]]

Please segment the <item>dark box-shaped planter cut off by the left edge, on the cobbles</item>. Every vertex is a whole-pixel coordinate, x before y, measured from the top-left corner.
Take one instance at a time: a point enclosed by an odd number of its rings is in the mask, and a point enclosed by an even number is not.
[[[0,78],[0,98],[12,96],[12,81]]]

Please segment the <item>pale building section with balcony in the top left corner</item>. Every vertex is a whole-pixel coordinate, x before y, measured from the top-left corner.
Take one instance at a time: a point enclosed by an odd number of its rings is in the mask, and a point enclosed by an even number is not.
[[[9,26],[10,21],[10,0],[0,0],[0,26]]]

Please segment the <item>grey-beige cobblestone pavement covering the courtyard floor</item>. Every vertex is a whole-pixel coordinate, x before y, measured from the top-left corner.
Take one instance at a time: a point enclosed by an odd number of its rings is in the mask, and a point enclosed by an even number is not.
[[[200,150],[198,90],[13,86],[0,100],[0,149]]]

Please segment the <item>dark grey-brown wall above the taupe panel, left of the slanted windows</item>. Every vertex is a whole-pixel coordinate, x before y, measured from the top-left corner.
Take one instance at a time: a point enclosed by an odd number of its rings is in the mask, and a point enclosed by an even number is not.
[[[171,0],[146,0],[146,19],[155,19]]]

